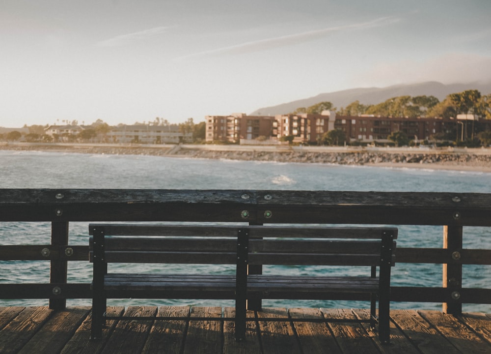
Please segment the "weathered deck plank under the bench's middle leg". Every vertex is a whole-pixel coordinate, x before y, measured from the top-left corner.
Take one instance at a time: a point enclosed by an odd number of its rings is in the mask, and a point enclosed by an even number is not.
[[[234,307],[225,307],[223,309],[225,317],[235,317]],[[255,318],[255,312],[248,310],[246,312],[248,319]],[[225,321],[223,324],[223,354],[247,354],[261,353],[259,336],[257,335],[257,324],[255,321],[246,323],[246,340],[243,342],[235,341],[235,324],[233,321]]]

